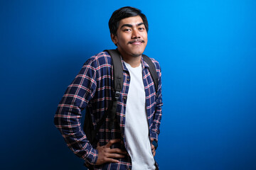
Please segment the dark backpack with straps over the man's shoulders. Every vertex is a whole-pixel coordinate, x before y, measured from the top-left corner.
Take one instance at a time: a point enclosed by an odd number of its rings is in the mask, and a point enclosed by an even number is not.
[[[121,61],[119,52],[117,50],[104,50],[104,51],[108,52],[110,54],[110,56],[112,57],[112,64],[114,67],[114,75],[113,75],[113,77],[114,77],[114,88],[113,88],[114,95],[112,97],[112,101],[110,102],[109,107],[107,108],[107,111],[104,113],[104,115],[102,116],[100,121],[97,123],[97,126],[95,129],[93,128],[93,125],[92,125],[91,115],[90,115],[89,111],[87,111],[87,108],[86,108],[85,122],[84,122],[83,130],[85,132],[87,140],[89,140],[90,143],[92,144],[92,146],[94,146],[94,147],[97,146],[97,140],[96,140],[97,132],[100,130],[100,127],[105,122],[107,116],[109,116],[109,119],[110,119],[109,129],[111,130],[114,127],[114,118],[115,118],[116,111],[117,111],[117,100],[120,96],[120,93],[122,91],[122,86],[123,86],[123,68],[122,68],[122,61]],[[154,86],[155,86],[156,93],[157,93],[158,75],[156,73],[156,67],[149,57],[147,57],[146,55],[142,55],[142,57],[143,57],[143,60],[147,64],[149,64],[149,72],[154,81]]]

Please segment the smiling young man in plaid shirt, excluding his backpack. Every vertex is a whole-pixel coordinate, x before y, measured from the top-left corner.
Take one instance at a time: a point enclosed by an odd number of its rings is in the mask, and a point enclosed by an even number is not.
[[[137,8],[114,11],[110,35],[120,54],[123,87],[117,102],[114,128],[106,118],[91,144],[81,128],[81,111],[87,107],[94,128],[113,97],[112,58],[107,52],[90,57],[58,105],[55,126],[68,147],[90,169],[158,169],[154,160],[161,121],[161,69],[151,59],[158,75],[158,89],[144,62],[148,22]]]

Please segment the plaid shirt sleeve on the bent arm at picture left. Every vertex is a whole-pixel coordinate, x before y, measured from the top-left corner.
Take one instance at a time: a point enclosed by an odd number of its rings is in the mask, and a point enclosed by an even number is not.
[[[85,62],[80,73],[65,91],[54,117],[55,126],[60,130],[68,147],[89,164],[97,162],[98,153],[81,128],[81,112],[95,94],[96,68],[96,63],[92,59]]]

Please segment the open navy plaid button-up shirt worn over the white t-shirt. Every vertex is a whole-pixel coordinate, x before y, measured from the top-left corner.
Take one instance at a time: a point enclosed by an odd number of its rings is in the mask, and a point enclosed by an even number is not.
[[[149,73],[149,65],[142,58],[143,81],[146,92],[146,114],[149,123],[150,137],[158,140],[159,125],[161,121],[161,69],[156,60],[151,59],[156,66],[159,76],[159,86],[156,94],[154,81]],[[112,148],[126,147],[125,128],[125,108],[127,94],[129,90],[129,71],[123,64],[124,83],[122,93],[117,102],[117,115],[114,120],[114,129],[109,130],[109,120],[106,119],[97,135],[100,145],[106,145],[112,139],[121,138],[122,142],[112,145]],[[83,65],[80,73],[75,77],[72,84],[68,86],[58,109],[55,113],[54,123],[63,135],[68,147],[85,160],[85,165],[93,169],[132,169],[131,158],[129,156],[119,159],[119,163],[102,164],[95,166],[97,162],[97,150],[88,142],[85,132],[81,128],[81,111],[88,107],[92,123],[96,128],[97,123],[107,111],[107,107],[112,100],[113,84],[112,58],[107,52],[90,57]]]

